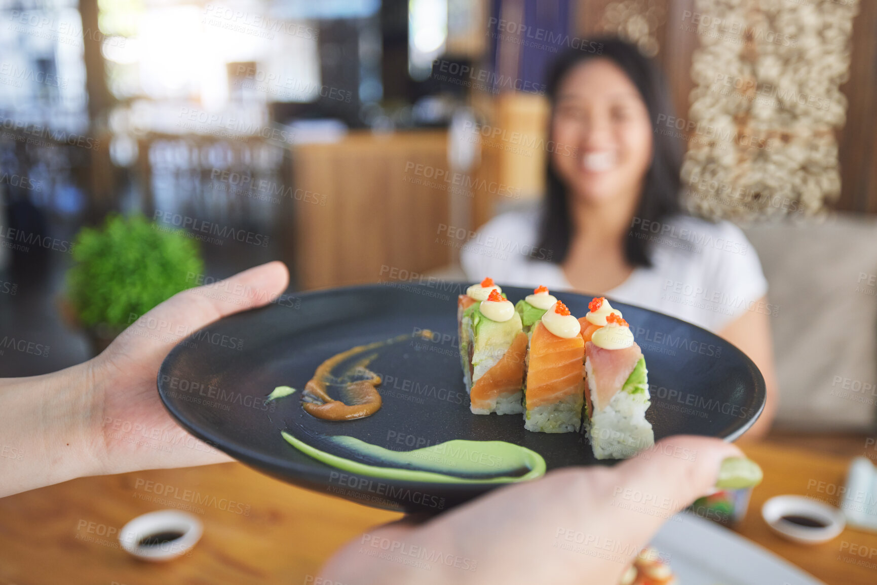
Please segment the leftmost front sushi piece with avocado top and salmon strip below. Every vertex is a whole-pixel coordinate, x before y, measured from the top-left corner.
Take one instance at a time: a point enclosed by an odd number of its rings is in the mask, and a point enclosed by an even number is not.
[[[527,334],[515,306],[498,290],[465,319],[467,391],[473,414],[520,414]]]

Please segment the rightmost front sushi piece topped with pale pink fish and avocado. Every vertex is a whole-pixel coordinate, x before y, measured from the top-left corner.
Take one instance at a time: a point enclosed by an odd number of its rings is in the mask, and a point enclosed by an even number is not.
[[[627,321],[606,321],[585,343],[586,431],[597,459],[628,459],[654,445],[648,370]]]

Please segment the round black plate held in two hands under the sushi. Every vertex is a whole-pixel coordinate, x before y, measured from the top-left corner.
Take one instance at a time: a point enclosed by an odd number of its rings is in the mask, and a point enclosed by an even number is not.
[[[450,439],[498,439],[540,453],[548,469],[598,463],[578,433],[527,432],[519,415],[469,412],[456,334],[456,298],[465,287],[431,282],[322,290],[225,317],[168,354],[159,371],[161,400],[189,432],[235,459],[305,488],[389,510],[443,510],[496,486],[348,474],[300,453],[280,432],[303,439],[307,432],[350,435],[397,451]],[[503,292],[517,302],[531,291]],[[588,312],[590,296],[553,294],[574,315]],[[744,353],[677,318],[611,302],[624,312],[645,354],[652,393],[647,418],[656,440],[680,433],[733,440],[752,425],[764,408],[765,384]],[[384,346],[369,366],[384,379],[383,406],[372,417],[340,423],[310,417],[300,392],[265,401],[276,386],[303,389],[336,353],[424,329],[435,332],[433,340]]]

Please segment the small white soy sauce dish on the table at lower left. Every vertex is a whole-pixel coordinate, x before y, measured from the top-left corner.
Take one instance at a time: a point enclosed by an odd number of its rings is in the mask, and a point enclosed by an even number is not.
[[[171,560],[188,553],[202,533],[203,524],[191,514],[158,510],[125,524],[118,533],[118,541],[122,548],[140,559]]]

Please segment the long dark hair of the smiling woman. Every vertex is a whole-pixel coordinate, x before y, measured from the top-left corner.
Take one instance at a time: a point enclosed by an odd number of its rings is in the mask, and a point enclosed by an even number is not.
[[[552,110],[560,83],[569,72],[581,63],[602,58],[615,63],[637,87],[655,130],[659,116],[672,119],[674,109],[667,82],[655,63],[640,54],[636,46],[620,39],[596,39],[590,46],[595,45],[599,48],[594,53],[570,50],[560,54],[554,62],[546,83]],[[680,212],[680,139],[671,136],[669,132],[653,132],[652,136],[652,164],[645,173],[642,194],[634,216],[643,222],[661,221]],[[573,235],[573,222],[569,214],[567,188],[554,171],[551,157],[548,157],[546,175],[545,217],[539,234],[539,246],[553,251],[552,260],[560,264],[567,257]],[[637,238],[634,232],[628,232],[624,239],[624,258],[631,266],[652,266],[647,242],[648,239]]]

